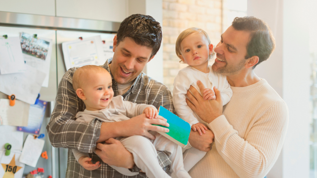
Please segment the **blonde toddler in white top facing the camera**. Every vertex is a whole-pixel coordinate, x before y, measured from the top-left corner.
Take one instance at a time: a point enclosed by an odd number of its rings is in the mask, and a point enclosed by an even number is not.
[[[198,131],[200,135],[205,133],[208,123],[201,120],[187,105],[185,99],[189,87],[192,85],[200,93],[197,87],[197,81],[200,80],[206,87],[200,94],[204,100],[210,100],[216,99],[213,91],[213,87],[216,86],[221,92],[223,105],[226,105],[232,96],[226,76],[215,73],[208,65],[209,60],[212,59],[212,51],[213,45],[210,43],[207,33],[202,29],[186,29],[176,41],[176,54],[180,62],[189,66],[180,70],[174,79],[173,105],[178,116],[191,124],[191,129]],[[185,170],[189,171],[205,154],[206,152],[193,147],[187,149],[183,154]]]

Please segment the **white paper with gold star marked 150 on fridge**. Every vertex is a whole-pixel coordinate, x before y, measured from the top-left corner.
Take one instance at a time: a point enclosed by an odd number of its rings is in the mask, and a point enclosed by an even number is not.
[[[9,156],[5,156],[5,151],[0,155],[0,177],[21,178],[25,164],[19,162],[21,151],[11,151]]]

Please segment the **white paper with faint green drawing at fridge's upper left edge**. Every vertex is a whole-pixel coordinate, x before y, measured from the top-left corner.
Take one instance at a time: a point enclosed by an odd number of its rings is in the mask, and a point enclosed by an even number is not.
[[[19,37],[0,37],[0,73],[21,73],[24,70]]]

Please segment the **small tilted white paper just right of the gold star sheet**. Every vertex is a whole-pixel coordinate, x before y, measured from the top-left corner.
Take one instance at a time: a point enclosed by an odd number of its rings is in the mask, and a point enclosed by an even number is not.
[[[36,167],[45,141],[39,138],[34,139],[33,135],[28,135],[23,145],[22,154],[19,161],[32,167]]]

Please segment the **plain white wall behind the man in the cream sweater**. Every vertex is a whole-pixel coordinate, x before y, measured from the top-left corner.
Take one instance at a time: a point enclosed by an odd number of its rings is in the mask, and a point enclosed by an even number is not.
[[[248,16],[263,19],[276,40],[272,56],[256,74],[285,100],[289,109],[287,136],[268,178],[309,177],[309,85],[307,0],[248,0]]]

